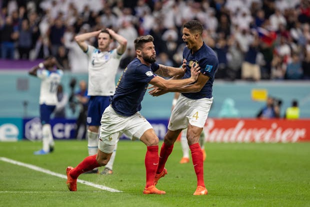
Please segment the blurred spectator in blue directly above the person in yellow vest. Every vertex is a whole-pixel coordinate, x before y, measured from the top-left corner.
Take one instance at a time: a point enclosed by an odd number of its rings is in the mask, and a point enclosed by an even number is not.
[[[292,54],[292,61],[289,62],[286,66],[286,79],[301,79],[302,77],[302,68],[301,61],[299,59],[298,54]]]

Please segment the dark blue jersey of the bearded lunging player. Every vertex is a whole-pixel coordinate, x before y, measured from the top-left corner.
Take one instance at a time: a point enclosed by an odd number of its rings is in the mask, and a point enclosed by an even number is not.
[[[119,78],[116,90],[111,96],[111,106],[116,113],[130,116],[141,109],[141,101],[148,87],[148,82],[155,77],[159,68],[157,63],[150,66],[134,58]]]

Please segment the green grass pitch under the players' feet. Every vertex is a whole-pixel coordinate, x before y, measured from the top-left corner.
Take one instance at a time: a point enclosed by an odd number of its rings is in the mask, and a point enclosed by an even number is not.
[[[159,144],[161,146],[161,142]],[[140,141],[120,141],[112,175],[81,174],[80,179],[122,190],[108,192],[0,160],[0,206],[310,206],[310,143],[206,143],[204,179],[208,195],[194,196],[191,162],[179,164],[176,142],[156,185],[165,195],[145,195]],[[65,175],[87,156],[86,141],[56,141],[55,151],[33,155],[40,142],[0,142],[0,156]],[[102,167],[101,167],[102,170]]]

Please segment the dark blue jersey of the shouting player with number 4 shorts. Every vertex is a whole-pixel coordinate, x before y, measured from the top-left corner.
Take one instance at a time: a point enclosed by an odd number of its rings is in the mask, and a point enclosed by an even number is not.
[[[200,66],[200,73],[202,75],[207,75],[210,78],[202,87],[199,92],[188,92],[182,93],[185,97],[190,99],[199,99],[199,98],[211,98],[212,97],[212,84],[214,81],[214,75],[218,66],[218,59],[215,52],[207,45],[203,45],[193,54],[191,50],[187,47],[184,47],[183,58],[186,61],[186,71],[182,78],[190,77],[190,67],[194,63],[198,63]]]

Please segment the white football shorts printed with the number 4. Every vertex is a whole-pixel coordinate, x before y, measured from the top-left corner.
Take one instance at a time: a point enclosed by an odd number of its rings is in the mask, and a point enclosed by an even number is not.
[[[190,99],[180,94],[171,112],[168,129],[187,128],[188,123],[197,127],[203,127],[209,113],[213,97]]]

